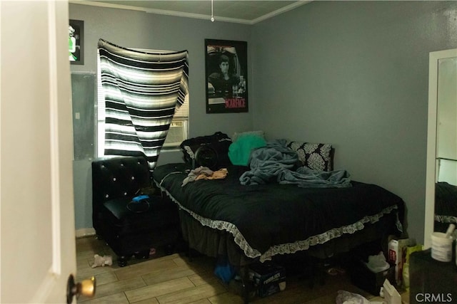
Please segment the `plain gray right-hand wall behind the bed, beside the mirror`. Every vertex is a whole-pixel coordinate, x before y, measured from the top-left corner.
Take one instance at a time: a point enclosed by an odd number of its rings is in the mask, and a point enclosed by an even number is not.
[[[253,127],[329,142],[335,169],[406,202],[423,240],[428,53],[457,47],[455,1],[313,1],[253,26]]]

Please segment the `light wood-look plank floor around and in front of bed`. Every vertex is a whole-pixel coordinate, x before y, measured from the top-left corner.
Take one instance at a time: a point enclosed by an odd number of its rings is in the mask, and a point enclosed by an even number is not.
[[[95,236],[76,239],[78,282],[95,276],[94,298],[79,297],[79,303],[136,303],[136,304],[236,304],[243,303],[231,285],[221,283],[214,276],[215,261],[206,256],[196,256],[189,261],[184,253],[166,256],[157,249],[148,260],[131,259],[126,267],[91,268],[94,254],[116,256],[104,241]],[[254,297],[250,303],[335,303],[338,290],[373,298],[352,285],[346,273],[336,276],[325,274],[323,285],[310,288],[302,276],[287,276],[286,290],[266,298]],[[376,299],[377,300],[377,299]]]

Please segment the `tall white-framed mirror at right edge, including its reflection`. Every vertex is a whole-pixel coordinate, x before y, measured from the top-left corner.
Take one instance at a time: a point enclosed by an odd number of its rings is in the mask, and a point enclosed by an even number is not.
[[[457,223],[457,48],[430,53],[424,245]]]

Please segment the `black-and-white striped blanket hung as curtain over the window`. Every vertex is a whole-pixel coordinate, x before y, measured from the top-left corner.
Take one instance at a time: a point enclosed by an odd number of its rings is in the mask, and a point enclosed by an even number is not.
[[[189,98],[188,52],[136,51],[100,39],[97,68],[104,154],[144,156],[153,172],[175,110]]]

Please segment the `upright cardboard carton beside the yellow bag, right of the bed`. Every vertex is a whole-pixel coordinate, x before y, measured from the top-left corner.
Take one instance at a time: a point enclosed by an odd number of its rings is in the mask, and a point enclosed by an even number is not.
[[[406,262],[406,248],[416,245],[415,239],[392,239],[388,242],[388,263],[395,265],[395,278],[389,280],[397,286],[403,285],[403,264]]]

